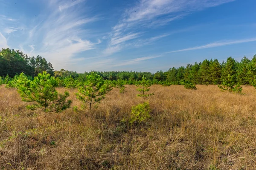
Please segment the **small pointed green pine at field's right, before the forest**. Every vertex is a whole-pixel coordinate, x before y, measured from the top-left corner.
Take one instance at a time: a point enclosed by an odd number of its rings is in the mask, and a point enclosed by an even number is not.
[[[230,74],[227,76],[227,79],[223,79],[223,82],[221,85],[218,85],[218,87],[221,89],[221,91],[229,91],[229,92],[235,92],[241,94],[242,87],[235,83],[234,76],[231,76]]]

